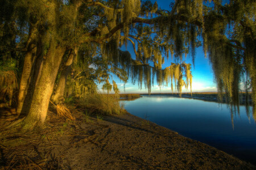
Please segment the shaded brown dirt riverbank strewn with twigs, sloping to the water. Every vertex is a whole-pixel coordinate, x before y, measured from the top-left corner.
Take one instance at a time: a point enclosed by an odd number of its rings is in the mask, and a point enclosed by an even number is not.
[[[38,133],[1,132],[0,169],[255,169],[232,155],[125,113],[75,121],[49,112]]]

